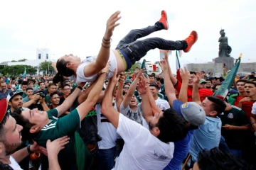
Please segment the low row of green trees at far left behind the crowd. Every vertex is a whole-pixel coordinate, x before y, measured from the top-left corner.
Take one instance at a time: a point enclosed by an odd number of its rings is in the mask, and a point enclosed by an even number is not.
[[[26,74],[36,74],[36,68],[30,65],[13,65],[6,66],[4,69],[0,69],[1,74],[9,76],[18,76],[24,73],[26,67]]]

